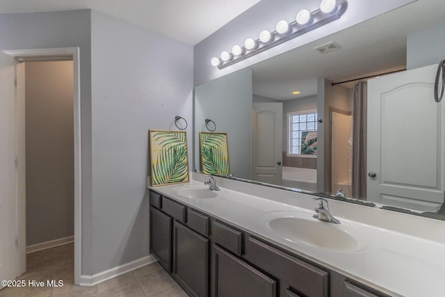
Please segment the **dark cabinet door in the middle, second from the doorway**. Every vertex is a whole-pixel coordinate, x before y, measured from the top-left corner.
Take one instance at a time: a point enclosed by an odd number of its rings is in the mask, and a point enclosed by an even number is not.
[[[173,275],[190,296],[209,296],[209,239],[175,221]]]

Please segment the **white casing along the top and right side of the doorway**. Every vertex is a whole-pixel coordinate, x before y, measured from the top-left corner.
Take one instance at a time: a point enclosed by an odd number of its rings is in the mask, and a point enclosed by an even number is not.
[[[17,49],[3,50],[4,54],[13,56],[16,59],[26,60],[32,57],[33,61],[47,61],[49,56],[60,58],[72,56],[73,61],[73,86],[74,86],[74,284],[79,284],[81,280],[82,264],[82,156],[81,156],[81,79],[80,79],[80,49],[79,47],[59,47],[52,49]],[[24,211],[24,210],[17,210]],[[24,234],[17,234],[21,238]],[[25,244],[25,243],[19,243]]]

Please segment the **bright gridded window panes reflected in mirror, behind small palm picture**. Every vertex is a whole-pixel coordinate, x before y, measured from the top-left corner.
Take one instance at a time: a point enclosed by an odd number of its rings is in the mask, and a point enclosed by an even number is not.
[[[287,154],[300,155],[303,132],[317,131],[317,111],[298,111],[288,113]]]

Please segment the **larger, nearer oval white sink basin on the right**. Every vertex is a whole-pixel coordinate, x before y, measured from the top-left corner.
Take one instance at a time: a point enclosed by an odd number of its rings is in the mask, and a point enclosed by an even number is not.
[[[357,252],[369,250],[375,241],[353,224],[333,224],[312,217],[312,214],[276,211],[261,218],[270,231],[286,241],[331,250]]]

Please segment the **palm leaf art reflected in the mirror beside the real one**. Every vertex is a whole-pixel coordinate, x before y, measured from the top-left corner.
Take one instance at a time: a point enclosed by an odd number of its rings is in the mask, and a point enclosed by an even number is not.
[[[204,175],[229,175],[228,147],[226,133],[200,132],[201,170]]]

